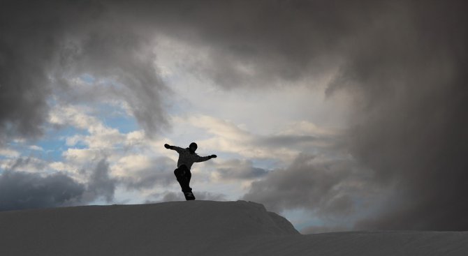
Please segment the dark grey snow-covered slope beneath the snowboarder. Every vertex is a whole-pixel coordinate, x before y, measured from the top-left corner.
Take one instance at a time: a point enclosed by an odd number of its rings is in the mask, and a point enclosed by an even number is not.
[[[302,235],[254,202],[165,202],[0,213],[0,255],[468,255],[468,232]]]

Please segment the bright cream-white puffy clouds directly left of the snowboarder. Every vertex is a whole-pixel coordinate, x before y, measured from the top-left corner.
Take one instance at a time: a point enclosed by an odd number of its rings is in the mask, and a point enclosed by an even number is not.
[[[83,202],[98,197],[111,202],[116,186],[145,191],[174,180],[172,171],[168,172],[176,166],[174,160],[153,156],[153,146],[163,148],[162,142],[147,140],[143,130],[120,133],[93,114],[88,107],[75,105],[54,107],[50,114],[51,123],[87,130],[87,135],[64,137],[68,146],[80,148],[66,149],[64,162],[49,165],[54,170],[73,170],[74,178],[87,184]]]

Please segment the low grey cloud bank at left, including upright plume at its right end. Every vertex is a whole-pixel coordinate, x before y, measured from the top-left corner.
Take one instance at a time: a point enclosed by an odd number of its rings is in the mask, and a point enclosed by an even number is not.
[[[0,211],[73,206],[103,198],[114,199],[118,181],[109,176],[109,164],[101,159],[87,174],[88,181],[79,183],[65,173],[39,174],[16,169],[45,169],[36,158],[18,158],[8,170],[0,172]],[[83,170],[85,174],[86,170]]]

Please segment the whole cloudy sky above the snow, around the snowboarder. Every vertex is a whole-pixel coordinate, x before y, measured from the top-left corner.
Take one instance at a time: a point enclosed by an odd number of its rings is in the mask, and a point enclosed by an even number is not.
[[[464,1],[2,1],[0,211],[249,200],[467,230]]]

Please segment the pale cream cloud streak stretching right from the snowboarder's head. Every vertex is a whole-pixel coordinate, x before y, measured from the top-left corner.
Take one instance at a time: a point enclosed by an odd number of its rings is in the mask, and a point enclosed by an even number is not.
[[[307,121],[288,123],[279,133],[258,135],[237,126],[232,121],[203,114],[193,114],[184,119],[173,118],[177,125],[201,128],[212,137],[198,140],[197,143],[211,151],[235,153],[243,158],[272,159],[289,162],[302,151],[326,149],[336,144],[338,131],[323,132],[322,128]],[[303,126],[291,130],[291,126]],[[310,128],[314,127],[312,131]]]

